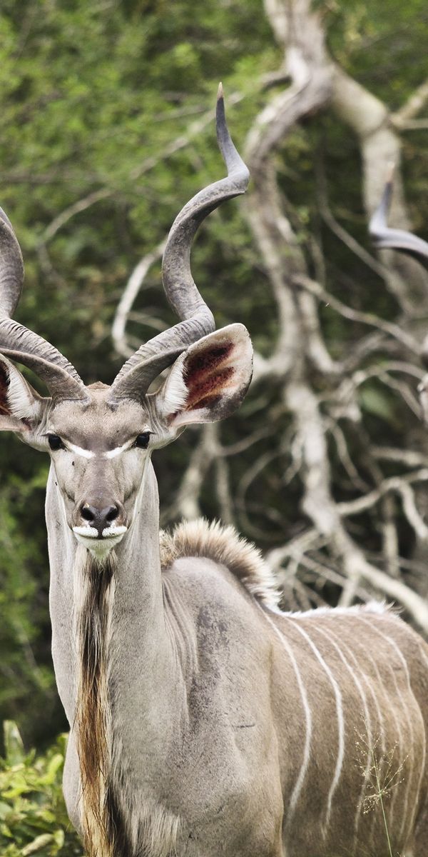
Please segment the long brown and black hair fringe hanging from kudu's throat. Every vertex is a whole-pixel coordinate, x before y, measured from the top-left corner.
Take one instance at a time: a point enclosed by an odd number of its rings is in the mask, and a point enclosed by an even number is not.
[[[79,673],[74,728],[80,764],[80,818],[87,857],[132,857],[111,782],[107,668],[116,562],[90,554],[76,569],[75,631]]]

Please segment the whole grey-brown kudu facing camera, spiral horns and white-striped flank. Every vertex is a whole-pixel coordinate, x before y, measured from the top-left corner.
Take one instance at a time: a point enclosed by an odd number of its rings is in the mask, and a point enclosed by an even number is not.
[[[159,534],[152,450],[188,423],[227,417],[252,371],[246,329],[214,332],[190,272],[202,219],[247,187],[221,95],[217,135],[228,177],[187,203],[163,257],[181,321],[111,387],[86,387],[11,320],[23,267],[6,215],[0,224],[0,428],[51,455],[68,813],[90,857],[385,857],[383,807],[392,853],[425,857],[424,642],[379,605],[282,613],[258,551],[231,528]]]

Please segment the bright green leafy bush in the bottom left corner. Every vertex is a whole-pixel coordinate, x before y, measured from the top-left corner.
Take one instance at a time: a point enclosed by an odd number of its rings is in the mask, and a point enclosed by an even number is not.
[[[2,857],[82,857],[62,797],[67,736],[45,755],[26,753],[16,724],[4,722],[0,758],[0,854]]]

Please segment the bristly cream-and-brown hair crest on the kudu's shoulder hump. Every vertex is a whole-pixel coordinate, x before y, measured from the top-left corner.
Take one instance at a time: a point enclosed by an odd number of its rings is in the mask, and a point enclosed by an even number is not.
[[[254,598],[277,609],[280,593],[275,578],[259,549],[238,536],[234,527],[199,518],[177,524],[171,533],[161,530],[159,536],[163,571],[183,556],[203,556],[229,568]]]

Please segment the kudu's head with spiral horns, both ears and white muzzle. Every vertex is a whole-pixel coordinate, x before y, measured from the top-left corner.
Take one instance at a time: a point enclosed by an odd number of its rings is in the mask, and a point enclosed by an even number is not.
[[[12,320],[23,264],[12,225],[0,209],[0,429],[51,455],[65,523],[100,560],[133,525],[152,450],[174,440],[189,423],[227,417],[251,380],[246,328],[233,324],[215,331],[190,269],[200,223],[221,202],[244,193],[249,178],[229,135],[221,88],[217,140],[228,176],[181,210],[163,254],[163,286],[181,321],[141,345],[110,387],[86,387],[53,345]],[[39,375],[49,398],[35,392],[15,362]],[[167,368],[163,386],[149,393]]]

